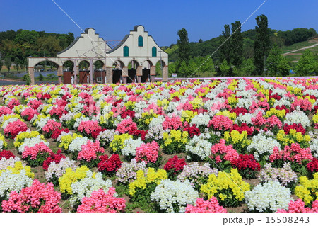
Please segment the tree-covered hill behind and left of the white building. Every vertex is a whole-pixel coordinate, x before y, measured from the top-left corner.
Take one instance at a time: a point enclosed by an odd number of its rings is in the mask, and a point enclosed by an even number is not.
[[[27,57],[54,57],[74,40],[73,33],[57,34],[35,30],[7,30],[0,32],[0,71],[6,65],[10,69],[27,67]],[[47,62],[50,64],[50,62]]]

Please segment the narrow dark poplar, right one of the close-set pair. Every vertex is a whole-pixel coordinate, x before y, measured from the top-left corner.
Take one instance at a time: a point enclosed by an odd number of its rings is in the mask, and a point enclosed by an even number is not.
[[[235,32],[236,30],[236,32]],[[231,63],[240,67],[243,61],[243,37],[241,34],[241,22],[232,23],[232,38],[230,42]]]

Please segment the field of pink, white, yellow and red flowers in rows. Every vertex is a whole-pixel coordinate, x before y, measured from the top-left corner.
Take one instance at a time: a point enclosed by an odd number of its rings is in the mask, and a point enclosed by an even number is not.
[[[318,79],[0,87],[1,213],[318,213]]]

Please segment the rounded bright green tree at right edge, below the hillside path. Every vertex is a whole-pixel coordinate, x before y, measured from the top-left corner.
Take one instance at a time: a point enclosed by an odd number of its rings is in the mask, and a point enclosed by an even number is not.
[[[295,72],[300,76],[305,76],[315,71],[317,67],[317,60],[310,50],[306,50],[300,60],[298,61]]]

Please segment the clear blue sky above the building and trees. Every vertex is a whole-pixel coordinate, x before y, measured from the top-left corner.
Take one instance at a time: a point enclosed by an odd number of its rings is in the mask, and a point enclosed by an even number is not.
[[[186,28],[190,41],[209,40],[222,33],[224,24],[245,19],[264,0],[54,0],[83,28],[93,27],[105,40],[122,40],[141,24],[158,45],[177,42],[177,30]],[[255,17],[265,14],[269,28],[314,28],[318,32],[317,0],[268,0],[242,26],[256,26]],[[82,32],[52,0],[2,0],[0,31],[45,30],[49,33]]]

